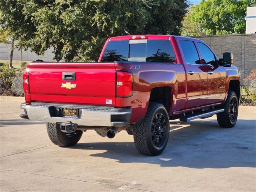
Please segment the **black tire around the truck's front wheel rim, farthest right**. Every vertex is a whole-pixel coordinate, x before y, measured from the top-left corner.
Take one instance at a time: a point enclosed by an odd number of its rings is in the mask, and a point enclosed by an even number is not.
[[[234,120],[230,120],[230,105],[231,102],[235,101],[236,103],[236,114],[234,116]],[[218,124],[223,127],[223,128],[232,128],[235,126],[236,121],[237,121],[237,116],[238,116],[238,99],[234,91],[229,91],[228,92],[228,97],[223,104],[224,112],[218,113],[217,114],[217,121]]]

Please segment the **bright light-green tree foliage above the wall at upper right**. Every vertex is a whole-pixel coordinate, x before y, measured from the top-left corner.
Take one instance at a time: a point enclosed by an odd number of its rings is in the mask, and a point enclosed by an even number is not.
[[[219,35],[245,33],[246,7],[255,0],[202,0],[190,8],[183,20],[182,34]]]

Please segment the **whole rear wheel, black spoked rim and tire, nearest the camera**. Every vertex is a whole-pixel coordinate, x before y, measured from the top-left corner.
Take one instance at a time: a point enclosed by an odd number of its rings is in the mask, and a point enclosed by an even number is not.
[[[160,103],[149,103],[143,122],[134,125],[134,144],[141,154],[157,156],[166,147],[169,131],[170,122],[165,107]]]

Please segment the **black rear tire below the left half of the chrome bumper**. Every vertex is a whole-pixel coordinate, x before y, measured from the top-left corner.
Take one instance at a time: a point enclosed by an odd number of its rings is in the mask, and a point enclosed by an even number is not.
[[[81,130],[76,130],[76,132],[72,134],[66,134],[60,130],[59,124],[56,123],[47,123],[46,128],[50,140],[54,144],[62,147],[69,147],[77,144],[83,134]]]

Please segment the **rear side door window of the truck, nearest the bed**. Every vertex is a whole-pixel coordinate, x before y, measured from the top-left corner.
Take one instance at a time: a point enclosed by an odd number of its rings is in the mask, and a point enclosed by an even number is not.
[[[184,58],[189,64],[200,64],[200,59],[193,41],[180,40]]]

